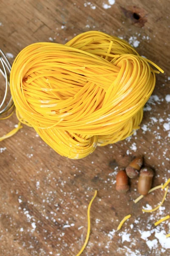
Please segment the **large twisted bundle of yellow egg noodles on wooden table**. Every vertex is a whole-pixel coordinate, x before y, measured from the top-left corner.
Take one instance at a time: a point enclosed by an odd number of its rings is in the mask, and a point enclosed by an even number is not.
[[[35,43],[11,69],[17,117],[57,153],[78,159],[139,128],[156,64],[122,39],[82,33],[65,45]]]

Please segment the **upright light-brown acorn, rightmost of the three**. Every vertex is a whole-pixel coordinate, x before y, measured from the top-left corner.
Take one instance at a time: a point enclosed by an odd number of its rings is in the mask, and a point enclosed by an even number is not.
[[[138,182],[138,192],[141,195],[147,195],[152,187],[154,172],[149,167],[144,167],[140,171],[139,182]]]

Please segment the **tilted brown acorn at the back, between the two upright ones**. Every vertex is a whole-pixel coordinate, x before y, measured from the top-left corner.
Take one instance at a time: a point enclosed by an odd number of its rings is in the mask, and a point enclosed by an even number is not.
[[[130,179],[134,179],[139,175],[139,171],[143,164],[143,157],[136,157],[127,167],[126,173]]]

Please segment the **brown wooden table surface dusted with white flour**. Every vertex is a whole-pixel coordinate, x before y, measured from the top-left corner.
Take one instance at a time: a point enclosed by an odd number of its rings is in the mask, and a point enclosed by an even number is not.
[[[155,207],[163,191],[134,204],[139,196],[137,180],[130,181],[125,195],[115,189],[118,169],[141,154],[144,163],[155,169],[153,186],[170,177],[170,1],[109,2],[0,0],[0,48],[14,57],[28,44],[65,44],[81,32],[100,30],[137,46],[165,72],[156,76],[141,129],[125,141],[98,147],[84,159],[59,156],[26,126],[0,143],[2,256],[75,256],[85,240],[86,212],[95,189],[91,236],[82,256],[170,255],[170,238],[164,238],[170,233],[170,221],[154,230],[154,222],[170,214],[170,193],[163,207],[151,214],[142,213],[142,207]],[[9,60],[12,64],[14,58]],[[15,124],[15,115],[0,121],[0,135]],[[129,213],[132,218],[115,232]]]

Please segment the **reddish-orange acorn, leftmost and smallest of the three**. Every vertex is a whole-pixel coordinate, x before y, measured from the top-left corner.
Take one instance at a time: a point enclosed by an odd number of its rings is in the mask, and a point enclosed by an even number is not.
[[[129,190],[128,177],[125,171],[121,170],[116,176],[116,190],[118,192],[127,192]]]

